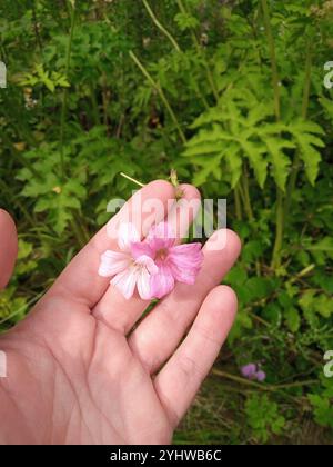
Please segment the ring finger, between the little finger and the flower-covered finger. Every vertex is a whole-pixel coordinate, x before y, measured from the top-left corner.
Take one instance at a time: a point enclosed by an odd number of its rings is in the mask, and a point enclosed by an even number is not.
[[[202,301],[219,285],[239,257],[241,242],[231,230],[219,230],[203,248],[203,266],[194,286],[178,284],[132,332],[129,345],[153,374],[172,355]]]

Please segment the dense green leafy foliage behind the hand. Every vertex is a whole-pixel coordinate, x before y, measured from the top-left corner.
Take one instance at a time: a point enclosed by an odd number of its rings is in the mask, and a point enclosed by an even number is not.
[[[120,171],[174,168],[228,198],[244,244],[236,325],[175,443],[331,444],[332,19],[332,1],[2,0],[1,207],[20,254],[1,329],[131,193]],[[250,361],[264,382],[242,378]]]

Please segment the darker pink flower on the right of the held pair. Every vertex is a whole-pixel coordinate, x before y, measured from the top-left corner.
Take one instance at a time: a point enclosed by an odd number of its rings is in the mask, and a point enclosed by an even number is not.
[[[162,298],[175,281],[194,285],[203,261],[201,244],[175,245],[175,235],[168,222],[151,228],[142,242],[131,247],[134,258],[142,255],[154,260],[159,270],[151,275],[151,297]]]

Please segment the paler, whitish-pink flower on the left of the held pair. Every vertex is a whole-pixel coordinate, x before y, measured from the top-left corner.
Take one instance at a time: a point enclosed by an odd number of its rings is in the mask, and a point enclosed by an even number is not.
[[[114,276],[110,284],[117,287],[129,299],[133,296],[135,286],[143,300],[151,298],[150,278],[158,272],[153,259],[142,255],[132,257],[131,245],[138,242],[140,236],[132,223],[122,223],[118,232],[118,246],[121,251],[107,250],[101,256],[99,275]]]

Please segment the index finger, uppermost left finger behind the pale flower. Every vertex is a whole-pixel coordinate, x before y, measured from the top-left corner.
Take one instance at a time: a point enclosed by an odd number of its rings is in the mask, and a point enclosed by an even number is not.
[[[152,181],[137,191],[122,209],[75,256],[48,292],[67,295],[93,308],[107,291],[110,278],[98,275],[100,257],[107,249],[118,249],[117,228],[132,222],[143,235],[150,218],[162,220],[174,199],[174,188],[164,180]],[[110,238],[110,235],[112,238]]]

